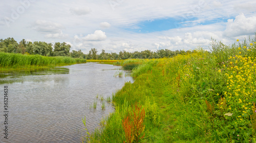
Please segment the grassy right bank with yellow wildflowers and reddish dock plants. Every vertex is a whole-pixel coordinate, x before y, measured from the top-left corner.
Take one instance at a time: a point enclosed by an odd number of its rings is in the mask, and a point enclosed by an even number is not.
[[[82,142],[256,142],[256,40],[212,40],[210,50],[115,63],[135,82]]]

